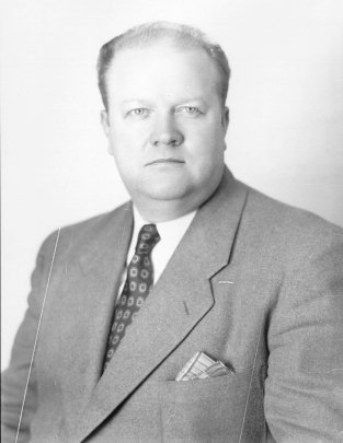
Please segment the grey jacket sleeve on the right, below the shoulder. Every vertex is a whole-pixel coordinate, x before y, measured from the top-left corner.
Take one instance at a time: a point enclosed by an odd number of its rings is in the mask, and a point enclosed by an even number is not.
[[[271,315],[264,407],[276,442],[343,441],[342,231],[319,243],[287,271]]]

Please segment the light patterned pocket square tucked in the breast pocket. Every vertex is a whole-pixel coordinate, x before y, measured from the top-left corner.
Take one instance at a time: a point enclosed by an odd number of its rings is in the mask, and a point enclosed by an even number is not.
[[[196,352],[176,375],[176,382],[186,382],[196,378],[217,377],[233,371],[221,361],[213,360],[205,352]]]

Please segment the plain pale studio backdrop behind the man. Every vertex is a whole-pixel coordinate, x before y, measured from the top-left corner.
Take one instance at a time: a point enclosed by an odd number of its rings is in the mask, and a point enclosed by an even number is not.
[[[176,21],[218,40],[232,68],[233,174],[343,225],[341,0],[2,0],[1,16],[2,368],[42,241],[127,199],[95,60],[135,24]]]

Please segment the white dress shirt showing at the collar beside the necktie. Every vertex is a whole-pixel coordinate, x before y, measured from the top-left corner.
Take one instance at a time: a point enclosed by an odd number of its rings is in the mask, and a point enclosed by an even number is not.
[[[153,247],[151,253],[152,266],[153,266],[153,284],[158,281],[161,273],[163,272],[168,261],[173,255],[176,246],[179,245],[184,233],[188,229],[192,220],[194,219],[196,211],[192,211],[183,217],[175,220],[170,220],[162,223],[155,223],[157,230],[160,234],[161,240]],[[132,242],[128,248],[126,266],[122,275],[121,287],[117,293],[117,301],[121,298],[122,290],[126,280],[127,264],[130,263],[136,248],[136,243],[138,238],[138,233],[142,225],[150,224],[151,222],[142,219],[137,208],[134,206],[134,231],[132,236]]]

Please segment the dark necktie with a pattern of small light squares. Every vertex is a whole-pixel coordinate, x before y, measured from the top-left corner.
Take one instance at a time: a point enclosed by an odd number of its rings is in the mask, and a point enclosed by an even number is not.
[[[138,234],[134,257],[127,268],[126,281],[119,302],[114,311],[112,329],[108,338],[104,370],[125,335],[127,326],[135,319],[153,283],[151,250],[160,241],[155,224],[145,224]]]

